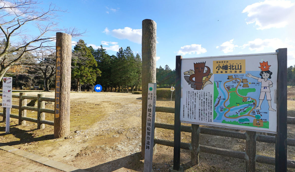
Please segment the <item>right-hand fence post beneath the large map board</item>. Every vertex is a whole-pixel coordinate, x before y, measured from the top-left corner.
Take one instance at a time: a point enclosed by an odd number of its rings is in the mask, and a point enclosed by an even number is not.
[[[246,131],[246,172],[255,172],[256,132]]]

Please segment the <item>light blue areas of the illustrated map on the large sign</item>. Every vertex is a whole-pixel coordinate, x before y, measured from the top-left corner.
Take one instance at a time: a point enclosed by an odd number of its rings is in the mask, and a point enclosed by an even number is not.
[[[251,73],[253,76],[256,76],[256,77],[259,77],[260,78],[260,71],[246,71],[246,73]],[[235,76],[236,75],[242,75],[242,76]],[[217,105],[217,107],[215,107],[215,111],[217,112],[217,117],[213,120],[214,122],[219,122],[221,123],[223,120],[225,121],[238,121],[239,118],[236,118],[236,119],[232,119],[232,118],[226,118],[224,117],[224,113],[228,111],[228,109],[226,109],[225,111],[220,111],[220,109],[224,109],[224,101],[227,99],[227,94],[225,94],[225,91],[224,90],[224,82],[226,81],[229,81],[227,78],[229,75],[233,75],[233,78],[240,78],[240,79],[247,79],[248,80],[248,85],[249,85],[249,88],[255,88],[256,91],[255,92],[249,92],[247,94],[247,96],[245,97],[250,97],[252,99],[256,99],[256,104],[258,105],[259,103],[259,95],[260,95],[260,89],[261,89],[261,83],[259,83],[257,81],[257,79],[254,79],[254,78],[250,78],[250,77],[246,77],[246,74],[238,74],[238,73],[233,73],[233,74],[214,74],[214,82],[215,84],[217,83],[217,81],[222,81],[222,82],[219,82],[219,87],[217,88],[218,92],[219,92],[219,95],[217,96],[217,99],[214,100],[214,105],[217,104],[217,101],[219,100],[219,96],[221,96],[221,99],[220,99],[220,102],[219,104]],[[237,82],[238,83],[238,82]],[[237,86],[237,83],[233,83],[232,82],[228,82],[226,83],[226,86],[230,86],[230,87],[236,87]],[[243,83],[240,83],[241,86],[238,86],[237,90],[238,89],[248,89],[248,88],[243,88]],[[239,92],[238,92],[239,93]],[[224,99],[224,100],[222,100]],[[242,98],[241,98],[242,99]],[[251,101],[252,101],[251,99]],[[272,98],[272,101],[273,101],[273,98]],[[225,103],[225,106],[228,106],[230,104],[230,99],[227,100],[227,102]],[[256,106],[257,106],[256,105]],[[237,107],[234,107],[234,108],[231,108],[230,109],[230,112],[228,112],[226,114],[226,116],[228,117],[229,115],[235,115],[235,114],[239,114],[240,112],[238,112],[240,109],[244,108],[244,107],[253,107],[253,103],[250,103],[250,104],[242,104],[240,106],[237,106]],[[223,107],[223,108],[220,108],[220,107]],[[264,108],[263,108],[264,107]],[[245,110],[245,109],[244,109]],[[251,115],[255,116],[258,114],[258,110],[253,110],[255,113],[251,113]],[[266,119],[267,121],[269,121],[269,118],[268,118],[268,102],[266,100],[266,97],[265,97],[265,100],[263,100],[262,104],[261,104],[261,110],[259,110],[260,114],[262,115],[261,119]],[[248,114],[249,111],[245,114]],[[260,115],[259,114],[259,115]],[[244,116],[242,118],[248,118],[250,120],[250,122],[253,122],[253,117],[250,117],[250,116]]]

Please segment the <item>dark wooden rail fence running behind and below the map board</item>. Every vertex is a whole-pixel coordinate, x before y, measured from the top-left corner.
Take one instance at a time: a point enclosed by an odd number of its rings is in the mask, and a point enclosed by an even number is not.
[[[156,112],[166,112],[173,113],[174,108],[172,107],[156,107]],[[287,124],[295,124],[295,117],[288,117]],[[163,128],[168,130],[174,130],[173,124],[166,124],[155,122],[156,128]],[[199,152],[211,153],[216,155],[227,156],[231,158],[239,158],[246,160],[246,171],[254,171],[255,170],[255,161],[258,163],[265,163],[275,165],[275,158],[256,155],[256,141],[258,142],[266,142],[266,143],[276,143],[275,136],[267,136],[267,135],[258,135],[254,131],[246,131],[244,133],[235,132],[235,131],[226,131],[212,128],[203,128],[199,127],[199,125],[192,124],[191,126],[183,126],[181,125],[182,132],[191,132],[191,143],[181,142],[180,147],[182,149],[191,150],[191,162],[192,165],[196,165],[199,163]],[[227,150],[221,148],[214,148],[211,146],[199,145],[199,135],[207,134],[207,135],[216,135],[216,136],[224,136],[224,137],[232,137],[237,139],[246,140],[245,152]],[[155,144],[171,146],[173,147],[174,143],[171,140],[165,140],[160,138],[154,139]],[[288,138],[287,139],[288,146],[295,146],[295,139]],[[288,168],[295,168],[295,160],[287,160]]]

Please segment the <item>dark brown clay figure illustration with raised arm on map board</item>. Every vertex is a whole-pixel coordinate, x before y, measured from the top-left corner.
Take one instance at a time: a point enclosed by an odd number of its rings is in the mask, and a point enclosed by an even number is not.
[[[195,74],[191,74],[191,76],[189,76],[189,80],[191,82],[194,82],[194,89],[195,90],[201,90],[203,84],[203,77],[206,77],[210,74],[210,68],[208,66],[205,66],[206,62],[200,62],[200,63],[194,63],[194,73]],[[204,69],[205,67],[208,69],[205,73],[204,73]],[[195,78],[195,80],[193,80],[193,78]]]

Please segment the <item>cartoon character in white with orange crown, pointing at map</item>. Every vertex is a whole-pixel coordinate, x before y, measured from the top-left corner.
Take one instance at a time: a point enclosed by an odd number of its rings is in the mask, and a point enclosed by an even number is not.
[[[256,107],[255,109],[261,109],[261,104],[262,104],[262,101],[264,100],[264,97],[265,97],[265,94],[266,94],[266,100],[268,101],[268,110],[270,111],[276,111],[275,109],[273,109],[271,107],[271,90],[270,88],[273,86],[273,82],[271,82],[271,80],[268,80],[268,79],[271,79],[271,75],[273,74],[271,71],[269,71],[269,67],[271,65],[268,65],[268,62],[265,62],[263,61],[262,63],[260,63],[260,76],[261,78],[258,78],[256,76],[253,76],[251,75],[250,73],[246,74],[247,77],[250,77],[250,78],[254,78],[254,79],[257,79],[258,82],[261,82],[261,89],[260,89],[260,96],[259,96],[259,105],[258,107]]]

